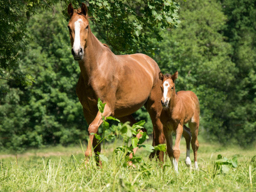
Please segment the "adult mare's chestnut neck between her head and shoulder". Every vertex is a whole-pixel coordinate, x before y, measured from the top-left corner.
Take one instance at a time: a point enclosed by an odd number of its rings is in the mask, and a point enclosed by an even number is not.
[[[88,80],[92,76],[93,71],[96,71],[99,67],[101,56],[104,46],[93,35],[91,31],[88,32],[87,47],[84,48],[84,58],[79,61],[79,67],[81,75],[84,80]]]

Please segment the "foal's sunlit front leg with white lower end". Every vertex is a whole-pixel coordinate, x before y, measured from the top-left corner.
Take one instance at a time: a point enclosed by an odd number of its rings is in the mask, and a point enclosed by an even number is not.
[[[174,170],[176,172],[178,172],[178,160],[180,158],[180,140],[181,140],[182,133],[183,133],[183,125],[179,123],[176,129],[176,140],[173,148],[174,160],[172,161],[174,164]]]

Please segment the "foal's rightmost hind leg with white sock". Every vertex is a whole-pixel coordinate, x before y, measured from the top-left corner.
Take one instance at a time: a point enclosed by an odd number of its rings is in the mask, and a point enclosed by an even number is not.
[[[199,127],[199,122],[189,122],[189,128],[191,128],[191,133],[192,133],[191,146],[194,152],[195,169],[198,169],[198,163],[197,163],[197,151],[199,148],[198,127]]]

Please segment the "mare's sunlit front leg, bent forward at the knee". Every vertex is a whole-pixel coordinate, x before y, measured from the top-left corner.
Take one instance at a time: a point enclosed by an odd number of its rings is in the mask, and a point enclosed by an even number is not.
[[[92,145],[93,145],[93,139],[94,139],[94,134],[98,132],[99,125],[102,124],[102,116],[108,117],[112,114],[111,108],[108,106],[108,104],[105,105],[103,113],[100,113],[98,111],[96,117],[94,118],[93,122],[89,125],[88,128],[88,133],[89,133],[89,141],[87,145],[87,149],[84,153],[85,157],[90,157],[92,155]],[[95,139],[94,139],[95,140]],[[94,141],[96,142],[96,140]],[[95,145],[96,143],[94,143]]]

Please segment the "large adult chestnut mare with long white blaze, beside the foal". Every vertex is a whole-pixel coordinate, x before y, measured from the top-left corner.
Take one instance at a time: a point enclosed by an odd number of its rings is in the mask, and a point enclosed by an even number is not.
[[[76,94],[89,124],[89,143],[85,156],[92,155],[92,145],[95,153],[101,151],[92,133],[98,133],[102,115],[115,116],[122,122],[135,123],[131,114],[143,105],[152,120],[153,144],[163,144],[163,125],[160,121],[162,93],[161,81],[158,78],[160,69],[157,63],[144,54],[113,54],[91,32],[87,6],[84,3],[82,3],[81,10],[74,10],[70,3],[67,11],[70,15],[68,29],[71,52],[74,59],[79,62],[81,70]],[[98,98],[106,103],[102,115],[97,108]],[[141,134],[137,135],[137,137],[140,136]],[[134,153],[135,151],[136,149]],[[163,152],[157,151],[157,155],[163,161]],[[154,157],[154,153],[151,157]]]

